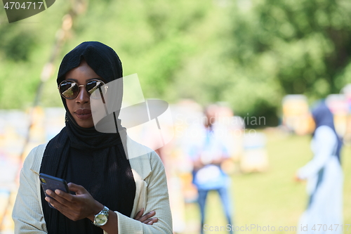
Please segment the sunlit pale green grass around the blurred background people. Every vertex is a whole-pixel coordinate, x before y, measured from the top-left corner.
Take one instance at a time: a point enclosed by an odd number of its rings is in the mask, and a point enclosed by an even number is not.
[[[293,176],[312,158],[310,136],[291,136],[276,131],[267,134],[267,153],[270,168],[265,173],[233,174],[231,195],[233,197],[234,225],[275,226],[268,233],[296,233],[288,230],[279,232],[279,226],[298,226],[298,219],[307,204],[305,183],[297,183]],[[344,223],[351,223],[351,147],[344,146],[342,152],[344,190]],[[185,233],[199,233],[199,209],[197,204],[186,205],[187,230]],[[223,207],[216,192],[209,193],[206,203],[208,226],[226,226]],[[345,227],[345,226],[344,226]],[[297,227],[298,228],[298,227]],[[350,228],[351,229],[351,228]],[[351,230],[348,230],[351,233]],[[345,232],[344,233],[348,233]],[[213,231],[205,233],[227,233]],[[267,233],[258,230],[236,233]]]

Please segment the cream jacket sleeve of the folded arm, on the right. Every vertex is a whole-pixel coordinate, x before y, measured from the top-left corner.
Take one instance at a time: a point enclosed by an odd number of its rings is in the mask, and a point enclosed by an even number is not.
[[[152,172],[145,178],[145,182],[147,183],[145,211],[151,212],[154,210],[156,212],[155,217],[157,217],[159,221],[152,225],[147,225],[116,212],[118,216],[119,234],[173,233],[166,173],[164,171],[164,165],[156,152],[151,153],[150,164]]]

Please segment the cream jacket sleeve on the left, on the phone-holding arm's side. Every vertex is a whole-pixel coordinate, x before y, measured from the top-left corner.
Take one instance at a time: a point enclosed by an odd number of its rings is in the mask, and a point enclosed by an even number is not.
[[[46,233],[46,223],[41,210],[39,175],[32,171],[35,155],[40,153],[41,146],[34,148],[27,156],[20,171],[20,188],[13,207],[12,218],[15,222],[15,233]],[[39,150],[38,150],[39,149]]]

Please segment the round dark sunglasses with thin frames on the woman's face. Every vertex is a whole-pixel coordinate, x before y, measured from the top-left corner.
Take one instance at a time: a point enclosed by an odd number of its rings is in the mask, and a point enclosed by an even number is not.
[[[72,100],[74,98],[77,98],[80,87],[85,87],[89,96],[94,99],[100,98],[107,92],[107,85],[105,85],[105,83],[100,79],[91,79],[86,83],[86,85],[79,85],[77,82],[74,82],[74,80],[64,80],[58,85],[58,91],[60,91],[62,97]],[[100,87],[102,88],[100,89]],[[98,92],[95,92],[97,89],[100,89],[100,95],[98,95]]]

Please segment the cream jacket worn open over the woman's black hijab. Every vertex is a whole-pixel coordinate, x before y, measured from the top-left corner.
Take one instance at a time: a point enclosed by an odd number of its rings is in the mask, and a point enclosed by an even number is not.
[[[15,233],[47,233],[41,207],[41,184],[39,181],[41,159],[46,145],[47,143],[39,145],[29,152],[20,171],[20,188],[12,214],[15,222]],[[153,225],[146,225],[115,212],[118,216],[119,234],[172,233],[171,209],[164,165],[153,150],[145,150],[143,145],[135,142],[131,144],[130,139],[127,141],[127,145],[128,155],[142,155],[129,157],[136,186],[131,217],[134,217],[140,209],[145,208],[145,213],[154,210],[155,217],[159,221]],[[140,150],[145,150],[146,153],[141,154]]]

